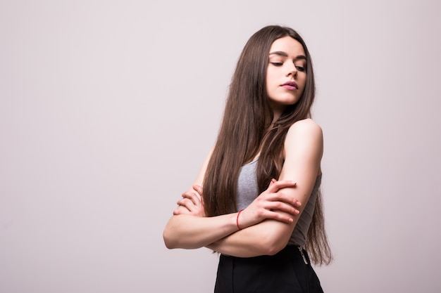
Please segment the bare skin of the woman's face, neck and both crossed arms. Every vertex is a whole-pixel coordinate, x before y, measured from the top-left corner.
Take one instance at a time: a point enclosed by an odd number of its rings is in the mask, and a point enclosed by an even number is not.
[[[267,93],[275,119],[287,105],[302,97],[306,82],[304,49],[291,37],[273,42],[268,53]],[[298,89],[283,86],[296,82]],[[206,158],[192,188],[182,194],[178,208],[163,232],[168,248],[208,247],[232,256],[273,255],[283,249],[309,200],[323,155],[321,127],[311,119],[294,123],[285,139],[285,163],[280,178],[268,186],[242,211],[237,228],[237,213],[205,217],[201,202]]]

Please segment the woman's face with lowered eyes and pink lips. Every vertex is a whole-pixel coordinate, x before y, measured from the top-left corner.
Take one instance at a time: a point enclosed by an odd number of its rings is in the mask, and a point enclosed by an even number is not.
[[[302,97],[306,83],[306,56],[302,44],[292,37],[271,45],[266,71],[266,91],[275,115]]]

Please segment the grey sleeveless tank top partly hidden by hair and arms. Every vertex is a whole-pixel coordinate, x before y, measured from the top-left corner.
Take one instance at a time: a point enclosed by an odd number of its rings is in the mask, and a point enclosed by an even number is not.
[[[253,162],[244,164],[240,169],[239,179],[237,181],[237,199],[236,205],[237,209],[244,209],[248,207],[251,202],[259,195],[259,190],[257,187],[257,176],[256,176],[256,166],[257,159]],[[312,215],[314,212],[314,207],[316,205],[316,199],[318,194],[318,188],[321,185],[321,175],[317,176],[316,183],[314,184],[311,196],[309,197],[302,214],[297,221],[288,245],[299,245],[304,246],[306,242],[306,234],[308,233],[309,225],[312,221]]]

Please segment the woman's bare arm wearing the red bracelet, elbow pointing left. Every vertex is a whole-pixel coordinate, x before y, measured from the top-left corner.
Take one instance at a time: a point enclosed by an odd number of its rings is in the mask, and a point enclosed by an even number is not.
[[[201,202],[199,189],[196,185],[201,185],[208,162],[209,157],[204,162],[194,187],[185,193],[187,197],[194,198],[194,203]],[[294,208],[297,205],[297,200],[280,193],[279,190],[295,185],[296,183],[292,181],[278,181],[272,184],[254,200],[253,204],[247,207],[246,215],[242,216],[241,214],[241,228],[253,226],[264,219],[292,222],[292,214],[299,212]],[[236,222],[237,213],[211,217],[197,216],[187,209],[187,207],[192,208],[191,204],[193,203],[188,202],[187,198],[187,204],[180,204],[168,221],[163,231],[166,247],[185,249],[205,247],[239,230]],[[285,211],[285,214],[276,212],[279,210]]]

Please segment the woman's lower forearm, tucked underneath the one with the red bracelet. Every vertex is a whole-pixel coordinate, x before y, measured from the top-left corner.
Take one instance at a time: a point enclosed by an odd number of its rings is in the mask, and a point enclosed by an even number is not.
[[[230,256],[272,255],[287,245],[293,223],[266,220],[207,245],[209,249]]]

